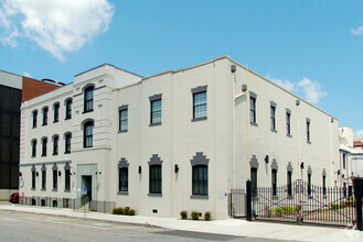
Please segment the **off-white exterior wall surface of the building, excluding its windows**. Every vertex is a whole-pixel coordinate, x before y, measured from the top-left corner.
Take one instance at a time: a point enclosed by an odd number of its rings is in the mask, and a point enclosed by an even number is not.
[[[235,74],[231,65],[237,65]],[[86,85],[94,84],[94,111],[83,113]],[[234,85],[233,85],[234,84]],[[211,211],[213,218],[227,218],[227,198],[231,188],[245,188],[248,178],[247,161],[253,156],[258,161],[258,186],[270,186],[271,163],[278,165],[278,185],[285,185],[287,164],[293,167],[292,179],[307,178],[311,166],[312,182],[321,185],[322,170],[325,168],[327,185],[332,183],[332,170],[339,164],[338,120],[307,103],[302,99],[281,89],[253,72],[248,72],[248,91],[257,95],[257,124],[249,124],[249,157],[247,160],[247,116],[246,94],[233,103],[233,97],[242,94],[246,84],[246,69],[229,57],[223,56],[177,72],[166,72],[143,78],[103,65],[75,77],[73,84],[47,95],[34,98],[22,106],[21,170],[25,180],[25,196],[57,196],[64,182],[60,182],[58,193],[41,191],[41,176],[36,190],[31,190],[31,166],[43,163],[47,166],[47,187],[52,187],[52,162],[72,161],[72,198],[79,198],[82,175],[93,177],[93,200],[115,201],[117,207],[130,207],[142,216],[178,217],[182,210]],[[207,119],[192,121],[193,95],[191,89],[207,86]],[[150,127],[150,100],[153,95],[162,95],[161,124]],[[64,121],[64,99],[73,97],[73,117]],[[61,102],[60,122],[32,129],[31,112]],[[300,105],[296,106],[296,100]],[[270,101],[276,103],[277,132],[270,130]],[[128,105],[128,131],[118,132],[118,107]],[[286,109],[291,110],[291,136],[286,135]],[[234,114],[233,114],[234,113]],[[235,116],[235,122],[233,117]],[[41,121],[39,112],[39,122]],[[306,138],[306,119],[311,122],[311,143]],[[93,147],[83,147],[83,128],[85,120],[93,119]],[[235,123],[235,124],[234,124]],[[249,120],[248,120],[249,123]],[[299,125],[298,125],[299,123]],[[298,134],[299,128],[299,134]],[[60,136],[72,131],[72,153],[64,155],[64,143],[60,141],[58,157],[31,157],[32,139],[43,135]],[[235,133],[235,139],[234,134]],[[52,142],[49,140],[49,150]],[[39,142],[38,150],[41,151]],[[299,152],[298,148],[299,147]],[[235,155],[234,151],[235,150]],[[50,151],[49,151],[50,152]],[[209,160],[209,196],[192,197],[191,160],[202,152]],[[299,170],[300,161],[305,168]],[[162,161],[162,194],[149,195],[149,165],[152,155]],[[266,155],[269,163],[265,163]],[[118,194],[118,163],[128,162],[128,194]],[[179,172],[174,173],[174,165]],[[60,166],[60,165],[58,165]],[[63,166],[63,165],[62,165]],[[141,166],[141,174],[138,167]],[[41,174],[41,173],[40,173]],[[61,179],[64,176],[61,176]],[[157,209],[158,213],[152,210]]]

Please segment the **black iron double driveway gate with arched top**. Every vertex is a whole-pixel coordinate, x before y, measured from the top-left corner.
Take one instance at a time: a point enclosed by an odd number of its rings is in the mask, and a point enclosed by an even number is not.
[[[248,188],[247,188],[248,190]],[[319,187],[299,179],[290,186],[250,189],[252,218],[298,223],[354,226],[355,197],[343,187]]]

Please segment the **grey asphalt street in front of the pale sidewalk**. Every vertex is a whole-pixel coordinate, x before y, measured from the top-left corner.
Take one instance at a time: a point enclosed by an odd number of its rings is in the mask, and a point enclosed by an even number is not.
[[[0,210],[0,241],[273,241]]]

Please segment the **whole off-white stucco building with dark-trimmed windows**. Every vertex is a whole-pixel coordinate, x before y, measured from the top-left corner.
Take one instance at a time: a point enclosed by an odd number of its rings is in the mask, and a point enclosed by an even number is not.
[[[338,124],[228,56],[149,77],[105,64],[22,103],[20,193],[62,207],[87,187],[95,209],[224,219],[248,178],[333,185]]]

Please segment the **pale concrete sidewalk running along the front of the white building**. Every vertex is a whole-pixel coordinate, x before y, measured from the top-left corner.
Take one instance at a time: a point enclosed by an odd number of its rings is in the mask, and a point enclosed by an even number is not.
[[[0,210],[34,212],[42,215],[85,218],[82,211],[72,209],[31,207],[0,204]],[[213,215],[212,215],[213,216]],[[120,222],[136,226],[160,227],[171,230],[216,233],[236,237],[249,237],[296,241],[363,241],[363,232],[352,229],[333,229],[323,227],[293,226],[267,222],[247,222],[239,219],[193,221],[175,218],[156,218],[140,216],[114,216],[99,212],[87,212],[85,219],[107,222]]]

